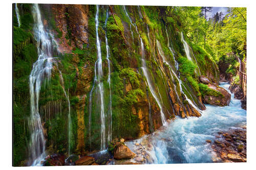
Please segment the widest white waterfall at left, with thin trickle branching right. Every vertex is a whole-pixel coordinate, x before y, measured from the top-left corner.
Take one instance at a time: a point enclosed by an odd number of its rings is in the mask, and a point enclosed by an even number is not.
[[[38,4],[33,5],[32,14],[33,14],[33,19],[35,23],[34,37],[37,42],[38,59],[33,64],[33,68],[29,76],[30,108],[31,108],[31,115],[29,118],[29,128],[31,131],[29,153],[31,154],[30,163],[32,165],[40,165],[40,161],[44,159],[46,156],[45,155],[46,139],[44,136],[44,129],[42,127],[41,117],[40,117],[39,108],[38,108],[39,93],[40,93],[42,82],[45,79],[50,80],[51,78],[53,62],[55,63],[57,69],[58,69],[58,66],[54,60],[55,58],[53,57],[53,49],[54,49],[53,42],[55,43],[55,41],[54,39],[52,39],[51,34],[44,29]],[[71,118],[70,118],[69,97],[65,91],[65,88],[63,87],[63,78],[62,78],[61,71],[59,69],[58,71],[60,74],[61,85],[69,104],[69,124],[70,124]],[[69,126],[69,130],[70,129],[71,127]],[[70,140],[69,140],[69,143],[70,143]]]

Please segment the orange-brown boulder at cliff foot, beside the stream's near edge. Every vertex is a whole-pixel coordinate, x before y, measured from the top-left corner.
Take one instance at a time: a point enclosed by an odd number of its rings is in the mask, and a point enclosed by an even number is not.
[[[115,159],[131,159],[135,157],[135,153],[133,153],[128,147],[124,144],[117,142],[114,149],[114,158]]]

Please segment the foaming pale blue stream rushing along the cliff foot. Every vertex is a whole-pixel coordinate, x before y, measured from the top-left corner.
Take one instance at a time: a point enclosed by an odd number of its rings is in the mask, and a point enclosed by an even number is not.
[[[220,86],[228,90],[229,84],[221,83]],[[201,117],[176,117],[162,131],[126,144],[136,152],[134,144],[141,143],[150,156],[146,163],[213,162],[215,154],[205,140],[214,141],[219,131],[239,129],[243,125],[246,125],[246,110],[241,108],[241,102],[231,94],[229,106],[206,105]]]

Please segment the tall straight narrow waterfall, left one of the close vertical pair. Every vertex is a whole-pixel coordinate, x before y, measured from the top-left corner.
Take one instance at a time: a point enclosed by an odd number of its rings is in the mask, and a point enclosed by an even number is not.
[[[98,27],[99,27],[99,5],[97,5],[97,11],[95,16],[95,27],[96,27],[96,45],[97,45],[97,56],[98,60],[97,62],[97,83],[98,83],[98,89],[99,89],[99,96],[100,96],[100,120],[101,120],[101,146],[100,150],[104,150],[106,148],[105,143],[105,112],[104,112],[104,99],[103,99],[103,82],[102,82],[102,58],[101,58],[101,48],[100,48],[100,41],[99,41],[99,33],[98,33]]]

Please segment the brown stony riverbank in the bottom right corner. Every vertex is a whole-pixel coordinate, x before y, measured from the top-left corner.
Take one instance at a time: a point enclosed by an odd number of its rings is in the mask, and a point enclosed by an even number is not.
[[[216,155],[214,162],[246,162],[246,126],[220,131],[215,141],[206,140]]]

